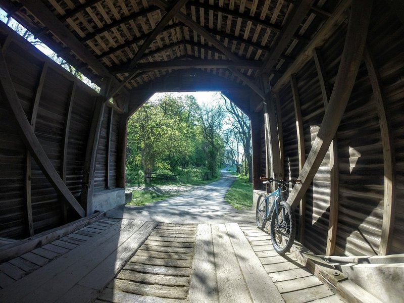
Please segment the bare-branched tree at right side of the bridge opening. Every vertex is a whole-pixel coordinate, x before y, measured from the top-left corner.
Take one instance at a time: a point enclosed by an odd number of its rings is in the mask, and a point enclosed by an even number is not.
[[[252,150],[251,150],[251,122],[247,115],[245,115],[238,107],[236,107],[230,100],[223,94],[227,112],[231,115],[231,126],[234,137],[242,143],[246,165],[248,168],[248,182],[252,182]]]

